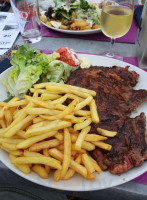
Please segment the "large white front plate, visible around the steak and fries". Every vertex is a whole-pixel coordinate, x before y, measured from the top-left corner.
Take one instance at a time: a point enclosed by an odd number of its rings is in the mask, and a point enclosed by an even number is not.
[[[91,60],[92,65],[99,65],[99,66],[118,65],[121,67],[125,67],[128,65],[128,63],[111,59],[111,58],[102,57],[102,56],[79,54],[79,57],[82,57],[82,56],[86,56],[87,58],[89,58]],[[130,70],[134,70],[140,75],[139,83],[137,84],[136,89],[147,89],[147,84],[146,84],[147,73],[133,65],[130,65]],[[0,75],[0,88],[1,88],[0,101],[3,101],[6,98],[6,89],[2,84],[2,79],[6,77],[8,71],[9,69]],[[144,103],[143,105],[141,105],[137,109],[137,113],[135,112],[134,116],[139,115],[140,112],[145,112],[147,116],[147,103]],[[11,165],[8,158],[8,154],[4,152],[3,150],[0,150],[0,159],[13,172],[15,172],[16,174],[34,183],[51,187],[51,188],[56,188],[56,189],[61,189],[61,190],[70,190],[70,191],[92,191],[92,190],[100,190],[100,189],[113,187],[113,186],[128,182],[136,178],[137,176],[143,174],[147,170],[147,161],[146,161],[144,162],[142,166],[135,167],[129,170],[128,172],[121,174],[120,176],[112,175],[109,172],[102,172],[100,175],[96,174],[96,179],[94,181],[89,181],[87,179],[82,178],[80,175],[76,175],[71,180],[59,181],[55,183],[53,181],[52,174],[49,176],[49,179],[47,180],[43,180],[39,178],[33,172],[31,172],[31,174],[29,175],[23,174],[17,168]]]

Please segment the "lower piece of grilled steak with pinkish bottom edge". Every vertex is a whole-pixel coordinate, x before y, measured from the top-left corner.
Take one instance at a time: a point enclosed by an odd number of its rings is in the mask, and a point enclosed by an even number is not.
[[[113,174],[120,174],[134,166],[140,166],[147,159],[145,126],[144,113],[134,119],[99,123],[98,127],[115,130],[117,135],[105,141],[112,145],[110,152],[97,148],[91,152],[92,156],[103,170],[108,169]]]

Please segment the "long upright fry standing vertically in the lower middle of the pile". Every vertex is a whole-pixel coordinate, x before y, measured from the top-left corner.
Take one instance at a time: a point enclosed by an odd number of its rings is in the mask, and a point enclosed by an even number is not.
[[[70,133],[67,128],[64,129],[64,157],[63,157],[63,165],[61,170],[61,177],[64,177],[71,160],[71,138]]]

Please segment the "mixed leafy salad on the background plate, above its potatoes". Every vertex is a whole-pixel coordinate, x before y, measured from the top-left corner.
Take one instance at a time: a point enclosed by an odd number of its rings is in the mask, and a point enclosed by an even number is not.
[[[69,5],[66,2],[54,0],[55,6],[45,12],[47,20],[59,20],[66,26],[70,26],[75,19],[91,21],[92,25],[100,24],[101,9],[98,5],[91,6],[86,0],[70,0]]]

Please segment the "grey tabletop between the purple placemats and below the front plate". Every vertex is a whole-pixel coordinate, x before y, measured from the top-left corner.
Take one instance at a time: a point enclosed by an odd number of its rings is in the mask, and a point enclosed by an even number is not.
[[[19,36],[15,42],[17,45],[24,44],[22,38]],[[88,41],[81,39],[67,39],[67,38],[49,38],[44,37],[42,41],[36,44],[31,44],[31,47],[37,49],[52,49],[57,50],[59,47],[69,46],[78,52],[87,52],[93,54],[104,53],[109,48],[108,42]],[[136,45],[116,43],[115,51],[122,56],[136,56]],[[12,188],[13,185],[13,188]],[[9,190],[9,193],[7,191]],[[11,192],[10,192],[11,190]],[[147,199],[147,185],[128,182],[123,185],[109,188],[106,190],[92,191],[92,192],[67,192],[58,191],[46,188],[34,183],[31,183],[5,167],[0,162],[0,199],[67,199],[66,195],[82,197],[83,199],[100,199],[100,200],[146,200]],[[17,192],[17,197],[14,192]],[[22,197],[25,194],[25,197]],[[10,198],[11,197],[11,198]],[[72,199],[72,198],[69,198]]]

